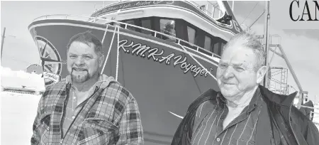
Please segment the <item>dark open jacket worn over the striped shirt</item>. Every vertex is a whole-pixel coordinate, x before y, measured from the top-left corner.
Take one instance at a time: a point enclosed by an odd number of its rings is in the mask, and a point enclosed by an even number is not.
[[[265,112],[266,115],[264,115],[268,119],[259,119],[257,123],[256,144],[269,144],[269,139],[265,136],[270,137],[270,130],[273,137],[276,138],[274,140],[279,141],[279,143],[286,142],[289,145],[319,144],[319,132],[315,124],[292,105],[297,92],[291,95],[278,95],[261,85],[259,85],[259,90],[268,106],[268,112]],[[203,102],[216,100],[217,94],[218,92],[212,89],[208,90],[191,103],[186,116],[174,134],[172,145],[189,145],[191,143],[192,127],[197,108]],[[267,129],[265,124],[271,126],[269,131],[265,131]]]

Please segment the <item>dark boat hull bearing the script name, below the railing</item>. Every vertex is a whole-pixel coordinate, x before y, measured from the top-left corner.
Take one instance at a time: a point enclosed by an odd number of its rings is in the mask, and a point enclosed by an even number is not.
[[[114,26],[59,19],[35,21],[29,26],[40,57],[56,60],[43,64],[47,77],[56,81],[60,79],[50,73],[62,79],[69,74],[66,47],[72,36],[91,31],[101,41],[104,37],[103,54],[108,59],[103,74],[117,78],[137,100],[145,144],[170,144],[181,122],[174,114],[183,117],[196,97],[210,88],[218,90],[216,79],[208,73],[216,75],[218,59],[142,33],[124,28],[119,33],[114,30]]]

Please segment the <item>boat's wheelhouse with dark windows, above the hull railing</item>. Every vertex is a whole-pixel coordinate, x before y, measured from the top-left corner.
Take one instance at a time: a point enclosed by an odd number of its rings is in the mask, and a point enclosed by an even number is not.
[[[91,17],[91,22],[109,23],[104,19],[111,19],[162,32],[217,55],[220,55],[226,41],[241,30],[226,1],[120,2],[99,9]],[[114,25],[114,22],[110,24]],[[125,25],[121,24],[121,27],[125,28]],[[151,31],[127,28],[154,36]],[[175,41],[161,35],[155,37]]]

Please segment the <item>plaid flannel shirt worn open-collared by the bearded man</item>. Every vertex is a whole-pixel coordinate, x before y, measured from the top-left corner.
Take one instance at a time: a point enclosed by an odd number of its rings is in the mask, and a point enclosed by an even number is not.
[[[135,98],[113,77],[100,83],[63,136],[71,84],[62,80],[47,87],[39,102],[31,144],[144,144]]]

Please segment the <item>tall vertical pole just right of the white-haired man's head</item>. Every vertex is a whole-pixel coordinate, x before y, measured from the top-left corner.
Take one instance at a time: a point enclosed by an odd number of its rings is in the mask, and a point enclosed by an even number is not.
[[[269,18],[270,18],[270,12],[269,12],[269,1],[265,1],[265,11],[266,11],[266,15],[265,15],[265,25],[264,25],[264,48],[265,48],[265,65],[267,66],[268,69],[270,69],[269,67],[269,63],[268,63],[268,53],[269,53]],[[268,88],[268,73],[266,73],[265,77],[264,77],[264,87]]]

